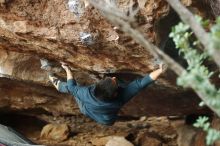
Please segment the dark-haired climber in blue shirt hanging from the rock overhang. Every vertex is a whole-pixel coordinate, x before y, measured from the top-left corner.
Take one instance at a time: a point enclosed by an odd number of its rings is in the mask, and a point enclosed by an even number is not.
[[[120,108],[165,71],[164,64],[160,64],[159,69],[126,86],[120,86],[115,77],[106,77],[90,86],[80,86],[73,79],[68,65],[62,63],[62,67],[67,74],[67,82],[62,82],[56,76],[49,75],[55,88],[60,92],[73,95],[84,115],[104,125],[114,124]]]

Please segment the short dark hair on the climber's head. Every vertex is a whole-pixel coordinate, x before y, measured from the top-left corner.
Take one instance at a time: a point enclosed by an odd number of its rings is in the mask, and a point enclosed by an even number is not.
[[[118,86],[112,82],[110,77],[101,80],[96,84],[95,97],[102,100],[111,100],[114,98]]]

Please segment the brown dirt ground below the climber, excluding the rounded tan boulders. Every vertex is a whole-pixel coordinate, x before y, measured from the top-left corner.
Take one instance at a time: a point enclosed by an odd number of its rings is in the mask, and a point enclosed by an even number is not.
[[[12,116],[10,116],[12,117]],[[43,117],[43,116],[42,116]],[[13,119],[14,118],[14,119]],[[40,133],[47,123],[33,117],[5,117],[8,125],[36,142],[48,146],[102,146],[110,136],[122,136],[135,146],[177,146],[175,123],[184,123],[183,119],[168,117],[141,117],[133,120],[118,121],[113,126],[96,124],[84,116],[48,117],[50,123],[67,124],[70,127],[69,138],[58,142],[41,139]],[[15,120],[15,119],[20,120]],[[14,123],[16,121],[16,123]],[[25,123],[25,124],[24,124]]]

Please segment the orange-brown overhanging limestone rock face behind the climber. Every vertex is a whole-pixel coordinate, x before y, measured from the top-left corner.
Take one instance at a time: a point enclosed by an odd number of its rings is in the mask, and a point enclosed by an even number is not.
[[[110,24],[88,1],[82,2],[83,13],[76,15],[66,0],[0,1],[0,73],[4,74],[0,78],[1,111],[79,114],[73,97],[58,93],[48,82],[47,72],[40,68],[40,58],[57,67],[65,61],[81,85],[95,83],[104,76],[131,81],[155,69],[149,52]],[[163,18],[172,16],[170,7],[164,0],[137,3],[140,11],[136,25],[151,42],[162,44],[171,24],[160,24]],[[124,12],[129,4],[128,0],[117,1]],[[197,1],[184,4],[206,14]],[[65,72],[61,70],[58,75],[64,78]],[[120,114],[136,117],[207,112],[198,106],[199,102],[192,91],[176,86],[176,75],[168,70]]]

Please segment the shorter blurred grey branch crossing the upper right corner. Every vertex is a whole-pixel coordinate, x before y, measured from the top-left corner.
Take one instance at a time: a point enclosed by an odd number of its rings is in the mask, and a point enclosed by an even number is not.
[[[205,50],[213,57],[214,61],[220,67],[220,49],[213,48],[214,45],[210,40],[209,34],[202,28],[202,26],[196,21],[195,16],[184,7],[179,0],[166,0],[170,6],[178,13],[180,18],[188,24],[192,31],[197,36],[198,40],[204,46]]]

